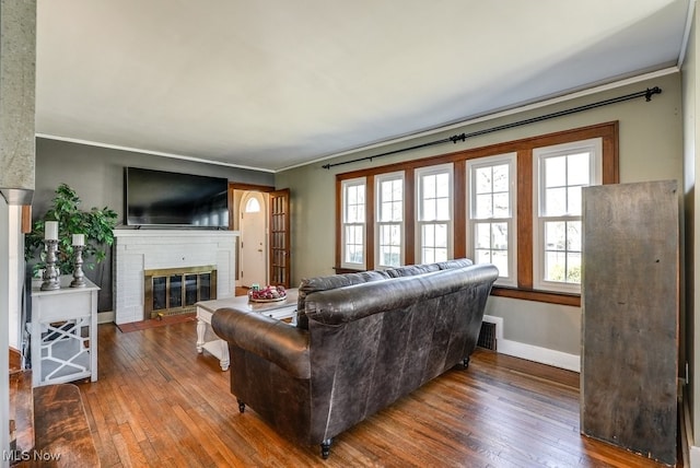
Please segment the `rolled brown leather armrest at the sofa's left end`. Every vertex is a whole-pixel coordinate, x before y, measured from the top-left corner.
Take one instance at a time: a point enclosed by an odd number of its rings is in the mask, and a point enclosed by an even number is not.
[[[214,312],[211,328],[229,346],[270,361],[296,378],[311,377],[307,330],[255,312],[225,307]]]

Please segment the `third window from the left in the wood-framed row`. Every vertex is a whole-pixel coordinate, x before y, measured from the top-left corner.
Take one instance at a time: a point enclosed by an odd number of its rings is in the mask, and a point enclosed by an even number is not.
[[[452,164],[416,171],[418,196],[418,250],[421,264],[452,256]]]

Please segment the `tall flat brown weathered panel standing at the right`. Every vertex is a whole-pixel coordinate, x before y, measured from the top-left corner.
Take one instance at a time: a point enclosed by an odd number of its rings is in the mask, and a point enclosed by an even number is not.
[[[676,464],[677,183],[583,190],[581,432]]]

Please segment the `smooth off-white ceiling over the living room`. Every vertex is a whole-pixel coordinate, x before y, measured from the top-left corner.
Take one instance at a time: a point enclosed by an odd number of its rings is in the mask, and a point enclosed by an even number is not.
[[[689,0],[37,0],[37,134],[278,171],[681,60]]]

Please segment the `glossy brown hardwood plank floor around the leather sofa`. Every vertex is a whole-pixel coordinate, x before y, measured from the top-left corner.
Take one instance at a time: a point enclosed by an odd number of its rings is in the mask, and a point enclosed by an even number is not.
[[[238,412],[196,323],[98,326],[98,381],[79,383],[103,467],[655,467],[579,433],[579,375],[477,350],[336,437],[330,457]],[[678,464],[678,466],[682,466]]]

